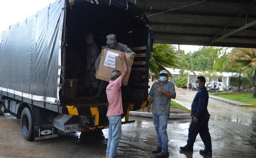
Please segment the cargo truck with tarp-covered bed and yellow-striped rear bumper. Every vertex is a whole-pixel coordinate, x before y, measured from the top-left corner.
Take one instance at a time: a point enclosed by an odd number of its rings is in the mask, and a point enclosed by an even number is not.
[[[133,122],[129,111],[147,106],[153,36],[145,14],[131,0],[57,0],[0,38],[0,114],[21,120],[24,139],[108,128],[107,99],[79,95],[86,33],[94,34],[99,49],[115,33],[136,52],[128,86],[122,86],[122,123]]]

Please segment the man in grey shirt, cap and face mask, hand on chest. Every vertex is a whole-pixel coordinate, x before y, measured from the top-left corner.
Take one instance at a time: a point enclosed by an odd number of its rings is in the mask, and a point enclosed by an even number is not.
[[[167,81],[167,71],[161,70],[160,79],[155,82],[150,89],[150,99],[147,111],[150,112],[152,105],[152,115],[157,136],[157,147],[152,153],[158,153],[156,158],[168,158],[168,135],[166,132],[167,121],[170,116],[171,99],[176,98],[174,85]]]

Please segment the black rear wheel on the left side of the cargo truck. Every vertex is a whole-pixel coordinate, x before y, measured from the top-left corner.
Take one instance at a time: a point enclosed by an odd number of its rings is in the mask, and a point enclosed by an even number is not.
[[[26,140],[32,140],[33,139],[33,118],[32,118],[32,112],[28,109],[28,107],[25,107],[21,113],[20,127],[21,127],[23,138]]]

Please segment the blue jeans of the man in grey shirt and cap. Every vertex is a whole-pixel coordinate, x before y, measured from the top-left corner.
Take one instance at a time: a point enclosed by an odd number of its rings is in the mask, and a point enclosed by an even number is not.
[[[157,146],[162,148],[162,152],[168,152],[168,135],[166,132],[168,115],[153,114],[153,121],[156,129]]]

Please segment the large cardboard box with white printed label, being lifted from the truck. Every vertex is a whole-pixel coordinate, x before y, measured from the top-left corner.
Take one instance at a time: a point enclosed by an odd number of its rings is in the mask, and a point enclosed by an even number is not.
[[[110,74],[113,70],[119,70],[123,72],[123,62],[119,58],[118,56],[119,54],[121,54],[121,51],[117,51],[117,50],[105,48],[105,47],[102,48],[97,79],[101,79],[109,82],[111,80]],[[122,85],[127,86],[135,53],[124,53],[124,54],[126,58],[128,73],[125,79],[123,80]]]

